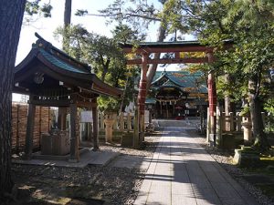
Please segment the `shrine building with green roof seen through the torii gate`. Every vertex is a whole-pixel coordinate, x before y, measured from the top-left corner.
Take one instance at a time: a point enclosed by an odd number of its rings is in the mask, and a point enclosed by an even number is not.
[[[154,118],[194,118],[200,115],[201,105],[207,106],[207,89],[202,72],[156,71],[148,95],[156,101]]]

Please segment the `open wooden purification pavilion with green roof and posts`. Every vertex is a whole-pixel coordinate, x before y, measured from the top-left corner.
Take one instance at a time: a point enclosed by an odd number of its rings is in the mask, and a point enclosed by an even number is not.
[[[93,118],[93,146],[98,143],[97,97],[121,97],[121,90],[102,81],[91,68],[68,56],[38,36],[36,44],[15,69],[14,92],[29,95],[26,126],[26,159],[33,151],[36,106],[58,107],[59,128],[65,128],[66,110],[70,109],[70,160],[79,161],[79,135],[76,133],[77,108],[89,108]]]

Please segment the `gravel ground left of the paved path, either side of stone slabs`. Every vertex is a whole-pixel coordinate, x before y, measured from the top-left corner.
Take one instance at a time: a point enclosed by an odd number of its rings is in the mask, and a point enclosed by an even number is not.
[[[146,146],[142,150],[121,148],[119,145],[101,145],[100,149],[111,149],[122,155],[152,157],[159,137],[160,133],[146,137]],[[108,165],[83,169],[13,165],[13,179],[19,188],[17,196],[19,201],[24,201],[21,204],[41,204],[41,200],[49,201],[46,204],[53,204],[52,201],[68,204],[70,199],[79,198],[129,205],[138,195],[144,174],[143,169],[113,168]],[[31,197],[26,198],[26,194]],[[70,201],[69,204],[74,203]]]

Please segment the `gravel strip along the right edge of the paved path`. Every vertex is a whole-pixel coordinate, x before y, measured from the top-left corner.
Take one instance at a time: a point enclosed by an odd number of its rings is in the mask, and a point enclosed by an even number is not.
[[[190,132],[191,135],[197,135],[194,131]],[[239,169],[237,166],[232,165],[232,155],[231,151],[222,151],[220,149],[214,149],[209,147],[205,143],[205,138],[196,138],[200,144],[205,148],[205,150],[211,155],[213,159],[216,160],[227,172],[230,174],[231,177],[237,180],[237,182],[247,190],[261,205],[274,205],[274,200],[269,199],[268,196],[264,195],[261,190],[258,190],[255,186],[248,183],[246,179],[243,179],[245,172],[243,169]]]

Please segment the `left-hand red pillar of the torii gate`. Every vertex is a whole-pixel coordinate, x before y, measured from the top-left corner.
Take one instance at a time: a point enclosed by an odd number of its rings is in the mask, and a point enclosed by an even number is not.
[[[147,73],[147,59],[148,54],[142,54],[142,72],[138,94],[138,109],[139,109],[139,130],[140,130],[140,144],[144,140],[144,103],[146,97],[146,73]]]

